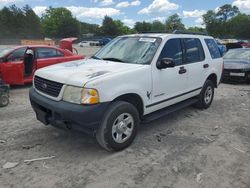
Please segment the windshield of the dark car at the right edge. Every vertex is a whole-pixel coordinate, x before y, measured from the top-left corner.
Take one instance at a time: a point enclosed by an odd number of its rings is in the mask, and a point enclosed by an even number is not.
[[[238,60],[250,60],[250,50],[249,49],[234,49],[229,50],[224,59],[238,59]]]

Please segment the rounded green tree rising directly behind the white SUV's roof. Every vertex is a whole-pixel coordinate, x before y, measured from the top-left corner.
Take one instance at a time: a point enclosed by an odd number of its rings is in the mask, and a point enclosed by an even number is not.
[[[178,14],[170,16],[166,21],[166,31],[172,33],[174,30],[185,30],[185,26]]]

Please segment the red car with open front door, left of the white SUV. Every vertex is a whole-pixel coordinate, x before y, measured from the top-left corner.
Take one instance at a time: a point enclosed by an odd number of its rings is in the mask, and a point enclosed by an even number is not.
[[[60,46],[61,48],[30,45],[0,50],[0,80],[2,79],[10,85],[24,85],[32,82],[37,69],[84,58],[84,56],[70,51],[73,51],[72,43],[68,49],[65,48],[65,45]]]

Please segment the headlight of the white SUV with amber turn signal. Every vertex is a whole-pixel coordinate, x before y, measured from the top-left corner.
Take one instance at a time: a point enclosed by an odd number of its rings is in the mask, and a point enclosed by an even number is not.
[[[96,89],[66,86],[63,100],[76,104],[97,104],[99,103],[99,94]]]

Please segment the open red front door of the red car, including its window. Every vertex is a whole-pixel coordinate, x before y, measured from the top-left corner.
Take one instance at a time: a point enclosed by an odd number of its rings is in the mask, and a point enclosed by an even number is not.
[[[24,53],[27,47],[22,47],[14,50],[8,57],[7,61],[3,62],[2,76],[7,84],[19,85],[24,83]]]

